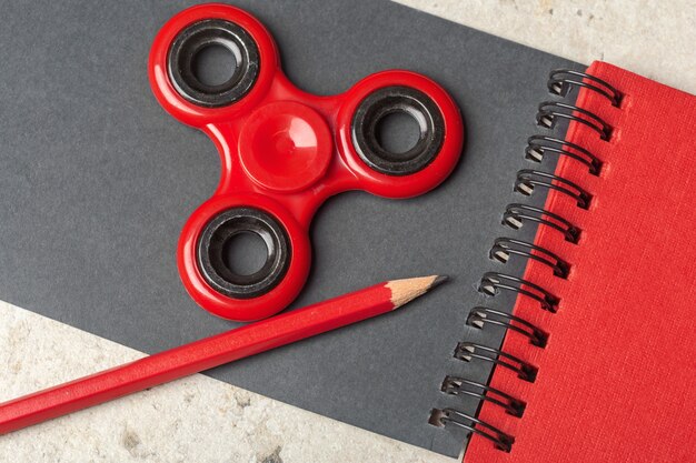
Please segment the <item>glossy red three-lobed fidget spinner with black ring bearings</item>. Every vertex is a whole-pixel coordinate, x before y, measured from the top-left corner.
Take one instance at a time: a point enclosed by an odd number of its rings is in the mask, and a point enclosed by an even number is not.
[[[210,46],[236,59],[221,84],[201,82],[193,60]],[[308,230],[319,205],[346,190],[387,198],[427,192],[451,172],[464,142],[459,110],[432,80],[384,71],[347,92],[318,97],[282,73],[278,49],[251,14],[210,3],[189,8],[159,31],[148,64],[152,91],[177,120],[207,133],[222,163],[220,183],[183,227],[177,262],[183,285],[203,309],[251,321],[286,308],[309,272]],[[410,114],[420,129],[404,153],[386,150],[377,124]],[[235,272],[226,244],[260,236],[266,263]]]

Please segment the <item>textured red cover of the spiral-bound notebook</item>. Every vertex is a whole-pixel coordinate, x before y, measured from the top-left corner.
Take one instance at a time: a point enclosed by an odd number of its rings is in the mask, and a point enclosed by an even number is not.
[[[605,141],[571,122],[566,135],[601,171],[568,157],[557,164],[556,175],[590,193],[589,208],[551,190],[545,209],[580,236],[574,244],[540,225],[535,244],[569,274],[529,260],[524,280],[557,296],[557,312],[519,295],[513,313],[548,343],[508,330],[501,351],[538,373],[527,382],[495,369],[490,385],[526,409],[516,417],[485,402],[479,420],[514,442],[504,452],[474,435],[466,463],[696,461],[696,98],[604,62],[586,72],[623,93],[614,107],[584,88],[575,102],[613,128]]]

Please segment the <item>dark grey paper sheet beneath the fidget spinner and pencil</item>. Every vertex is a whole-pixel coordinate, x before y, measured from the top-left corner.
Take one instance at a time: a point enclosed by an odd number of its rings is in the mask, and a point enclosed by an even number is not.
[[[218,154],[165,113],[147,79],[156,32],[189,4],[0,2],[0,299],[148,353],[236,325],[189,299],[175,260],[186,219],[217,185]],[[415,70],[455,97],[467,141],[451,178],[424,197],[329,200],[294,306],[395,278],[453,282],[397,313],[209,374],[456,456],[464,434],[428,424],[429,413],[476,411],[440,384],[448,373],[487,381],[487,365],[453,351],[464,339],[501,340],[466,315],[483,299],[477,282],[494,265],[488,249],[546,76],[573,63],[387,1],[235,4],[268,27],[300,88],[338,93],[371,72]]]

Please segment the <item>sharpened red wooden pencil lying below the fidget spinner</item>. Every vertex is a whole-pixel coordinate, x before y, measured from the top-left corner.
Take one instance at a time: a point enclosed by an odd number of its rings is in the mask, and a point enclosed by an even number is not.
[[[445,281],[392,280],[0,404],[0,434],[397,309]]]

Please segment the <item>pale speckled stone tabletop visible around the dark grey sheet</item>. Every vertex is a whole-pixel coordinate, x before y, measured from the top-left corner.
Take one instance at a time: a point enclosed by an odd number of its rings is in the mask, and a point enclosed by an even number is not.
[[[696,0],[400,1],[576,61],[604,59],[696,92]],[[0,400],[141,355],[0,302]],[[203,375],[2,436],[0,461],[454,462]]]

